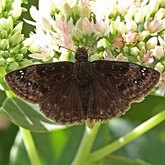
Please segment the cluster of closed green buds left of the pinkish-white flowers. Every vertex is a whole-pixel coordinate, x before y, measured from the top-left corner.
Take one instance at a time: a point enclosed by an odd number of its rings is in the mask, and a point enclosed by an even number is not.
[[[27,47],[23,45],[23,23],[18,22],[24,10],[21,7],[23,0],[4,0],[0,3],[0,67],[8,72],[32,62],[25,57]]]

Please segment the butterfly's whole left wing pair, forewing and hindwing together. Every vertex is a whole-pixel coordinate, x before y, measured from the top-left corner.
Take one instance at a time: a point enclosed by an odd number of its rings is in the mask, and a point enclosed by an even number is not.
[[[5,78],[16,95],[39,103],[49,119],[62,124],[75,123],[83,121],[85,116],[73,67],[71,62],[32,65],[13,71]]]

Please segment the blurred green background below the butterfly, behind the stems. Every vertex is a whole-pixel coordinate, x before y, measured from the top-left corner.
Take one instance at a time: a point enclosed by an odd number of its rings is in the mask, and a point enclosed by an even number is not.
[[[148,96],[135,103],[126,115],[102,124],[92,150],[97,150],[161,112],[165,107],[163,97]],[[17,126],[6,117],[0,118],[0,164],[30,165],[22,137]],[[39,157],[44,165],[69,165],[81,142],[84,125],[48,133],[32,133]],[[153,164],[165,162],[165,122],[127,144],[117,152],[94,164]],[[87,162],[88,164],[88,162]]]

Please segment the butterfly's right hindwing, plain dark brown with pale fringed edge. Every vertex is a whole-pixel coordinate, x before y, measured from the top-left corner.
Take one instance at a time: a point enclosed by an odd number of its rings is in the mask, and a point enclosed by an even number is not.
[[[121,97],[117,91],[101,79],[93,75],[94,79],[89,88],[88,118],[90,120],[107,120],[119,116],[123,109],[128,109],[129,101]]]

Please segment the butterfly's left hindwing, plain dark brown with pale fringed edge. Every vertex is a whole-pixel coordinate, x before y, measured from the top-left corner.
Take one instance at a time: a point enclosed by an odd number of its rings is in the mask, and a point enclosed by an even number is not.
[[[46,117],[60,124],[81,123],[86,119],[74,75],[54,87],[40,103]]]

